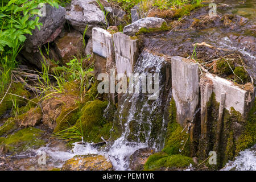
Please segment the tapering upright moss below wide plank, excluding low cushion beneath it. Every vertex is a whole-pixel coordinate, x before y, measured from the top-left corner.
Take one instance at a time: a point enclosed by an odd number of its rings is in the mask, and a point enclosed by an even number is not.
[[[170,122],[167,126],[167,137],[166,143],[164,145],[163,151],[169,155],[174,154],[183,154],[189,155],[189,134],[186,133],[184,130],[182,133],[181,131],[183,128],[176,122],[176,105],[174,99],[170,102]],[[188,139],[187,143],[185,141]],[[181,144],[183,143],[183,144]],[[183,146],[185,144],[185,146]],[[184,147],[184,148],[183,148]],[[183,148],[183,151],[181,151]],[[180,152],[181,151],[181,152]]]

